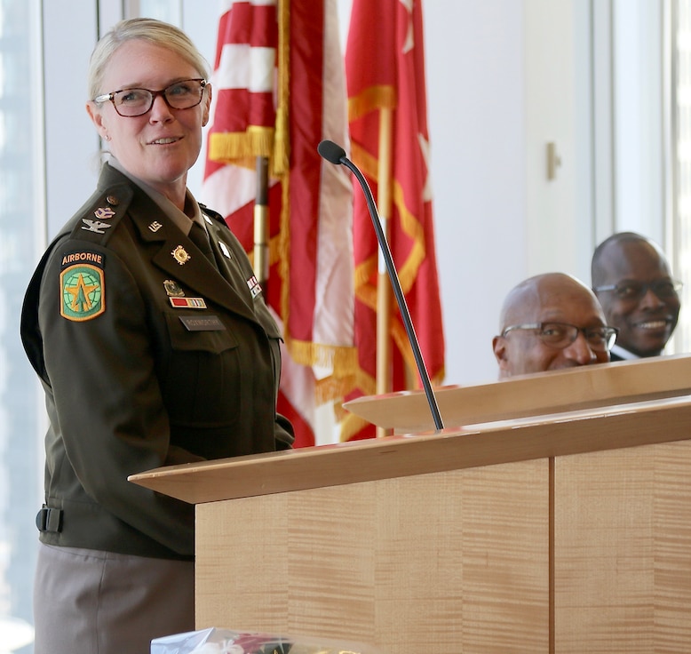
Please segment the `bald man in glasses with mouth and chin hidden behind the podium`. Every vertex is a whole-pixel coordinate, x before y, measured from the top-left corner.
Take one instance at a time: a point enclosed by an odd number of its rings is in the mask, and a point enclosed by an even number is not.
[[[530,277],[504,300],[492,340],[499,377],[607,363],[616,330],[584,283],[562,273]]]

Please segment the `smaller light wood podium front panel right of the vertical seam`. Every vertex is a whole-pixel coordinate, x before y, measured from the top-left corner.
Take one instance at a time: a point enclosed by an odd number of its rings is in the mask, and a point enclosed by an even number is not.
[[[556,651],[691,651],[691,441],[561,457]]]

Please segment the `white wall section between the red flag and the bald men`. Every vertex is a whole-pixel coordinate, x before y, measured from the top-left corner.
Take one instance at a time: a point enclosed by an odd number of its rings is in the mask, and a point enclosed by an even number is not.
[[[496,378],[499,307],[528,271],[524,12],[430,0],[424,19],[445,383],[467,384]]]

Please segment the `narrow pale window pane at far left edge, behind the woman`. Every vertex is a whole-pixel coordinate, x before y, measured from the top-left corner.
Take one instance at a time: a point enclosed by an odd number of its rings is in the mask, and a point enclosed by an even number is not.
[[[19,322],[45,243],[38,8],[0,0],[0,620],[28,624],[34,516],[43,496],[44,403],[21,347]],[[9,646],[9,628],[0,631]]]

